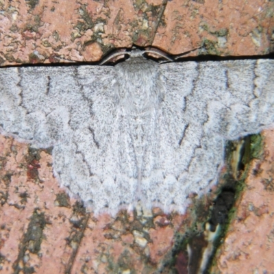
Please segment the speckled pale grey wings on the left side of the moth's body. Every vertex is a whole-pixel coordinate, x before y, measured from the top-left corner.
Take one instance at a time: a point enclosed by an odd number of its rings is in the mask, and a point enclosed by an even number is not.
[[[113,192],[120,197],[112,207],[127,201],[121,193],[128,171],[117,160],[117,147],[126,155],[128,141],[121,140],[125,119],[112,101],[114,75],[110,66],[0,70],[1,132],[38,147],[53,146],[55,175],[71,193],[95,201],[95,211],[108,205]]]

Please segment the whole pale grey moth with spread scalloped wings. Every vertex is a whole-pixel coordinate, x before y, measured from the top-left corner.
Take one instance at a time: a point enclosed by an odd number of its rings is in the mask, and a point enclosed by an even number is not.
[[[0,69],[0,132],[53,147],[53,171],[95,213],[138,201],[184,212],[225,140],[274,125],[274,60]]]

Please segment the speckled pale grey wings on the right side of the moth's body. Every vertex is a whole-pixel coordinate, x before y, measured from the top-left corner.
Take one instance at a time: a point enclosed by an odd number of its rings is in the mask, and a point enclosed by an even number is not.
[[[273,60],[236,60],[161,65],[168,97],[158,123],[166,136],[160,138],[159,151],[166,159],[169,147],[175,166],[164,160],[164,173],[171,173],[151,191],[153,201],[161,197],[164,205],[184,208],[180,205],[191,192],[201,195],[216,182],[225,139],[273,125],[273,64]],[[179,144],[177,149],[166,140],[173,140],[175,147]]]

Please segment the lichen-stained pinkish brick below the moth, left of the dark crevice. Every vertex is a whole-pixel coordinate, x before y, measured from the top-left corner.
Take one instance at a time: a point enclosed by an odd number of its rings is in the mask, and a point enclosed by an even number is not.
[[[186,216],[140,207],[116,218],[95,218],[58,187],[46,151],[29,153],[28,145],[4,136],[0,147],[3,273],[32,268],[36,273],[151,273],[145,269],[158,268],[171,250],[174,233],[186,221]]]

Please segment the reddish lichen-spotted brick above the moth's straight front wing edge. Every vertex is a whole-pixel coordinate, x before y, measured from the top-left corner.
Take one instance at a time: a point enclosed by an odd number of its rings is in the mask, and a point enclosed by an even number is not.
[[[273,49],[273,6],[264,0],[2,0],[0,64],[92,62],[133,44],[172,54],[201,45],[209,54],[264,54]]]

